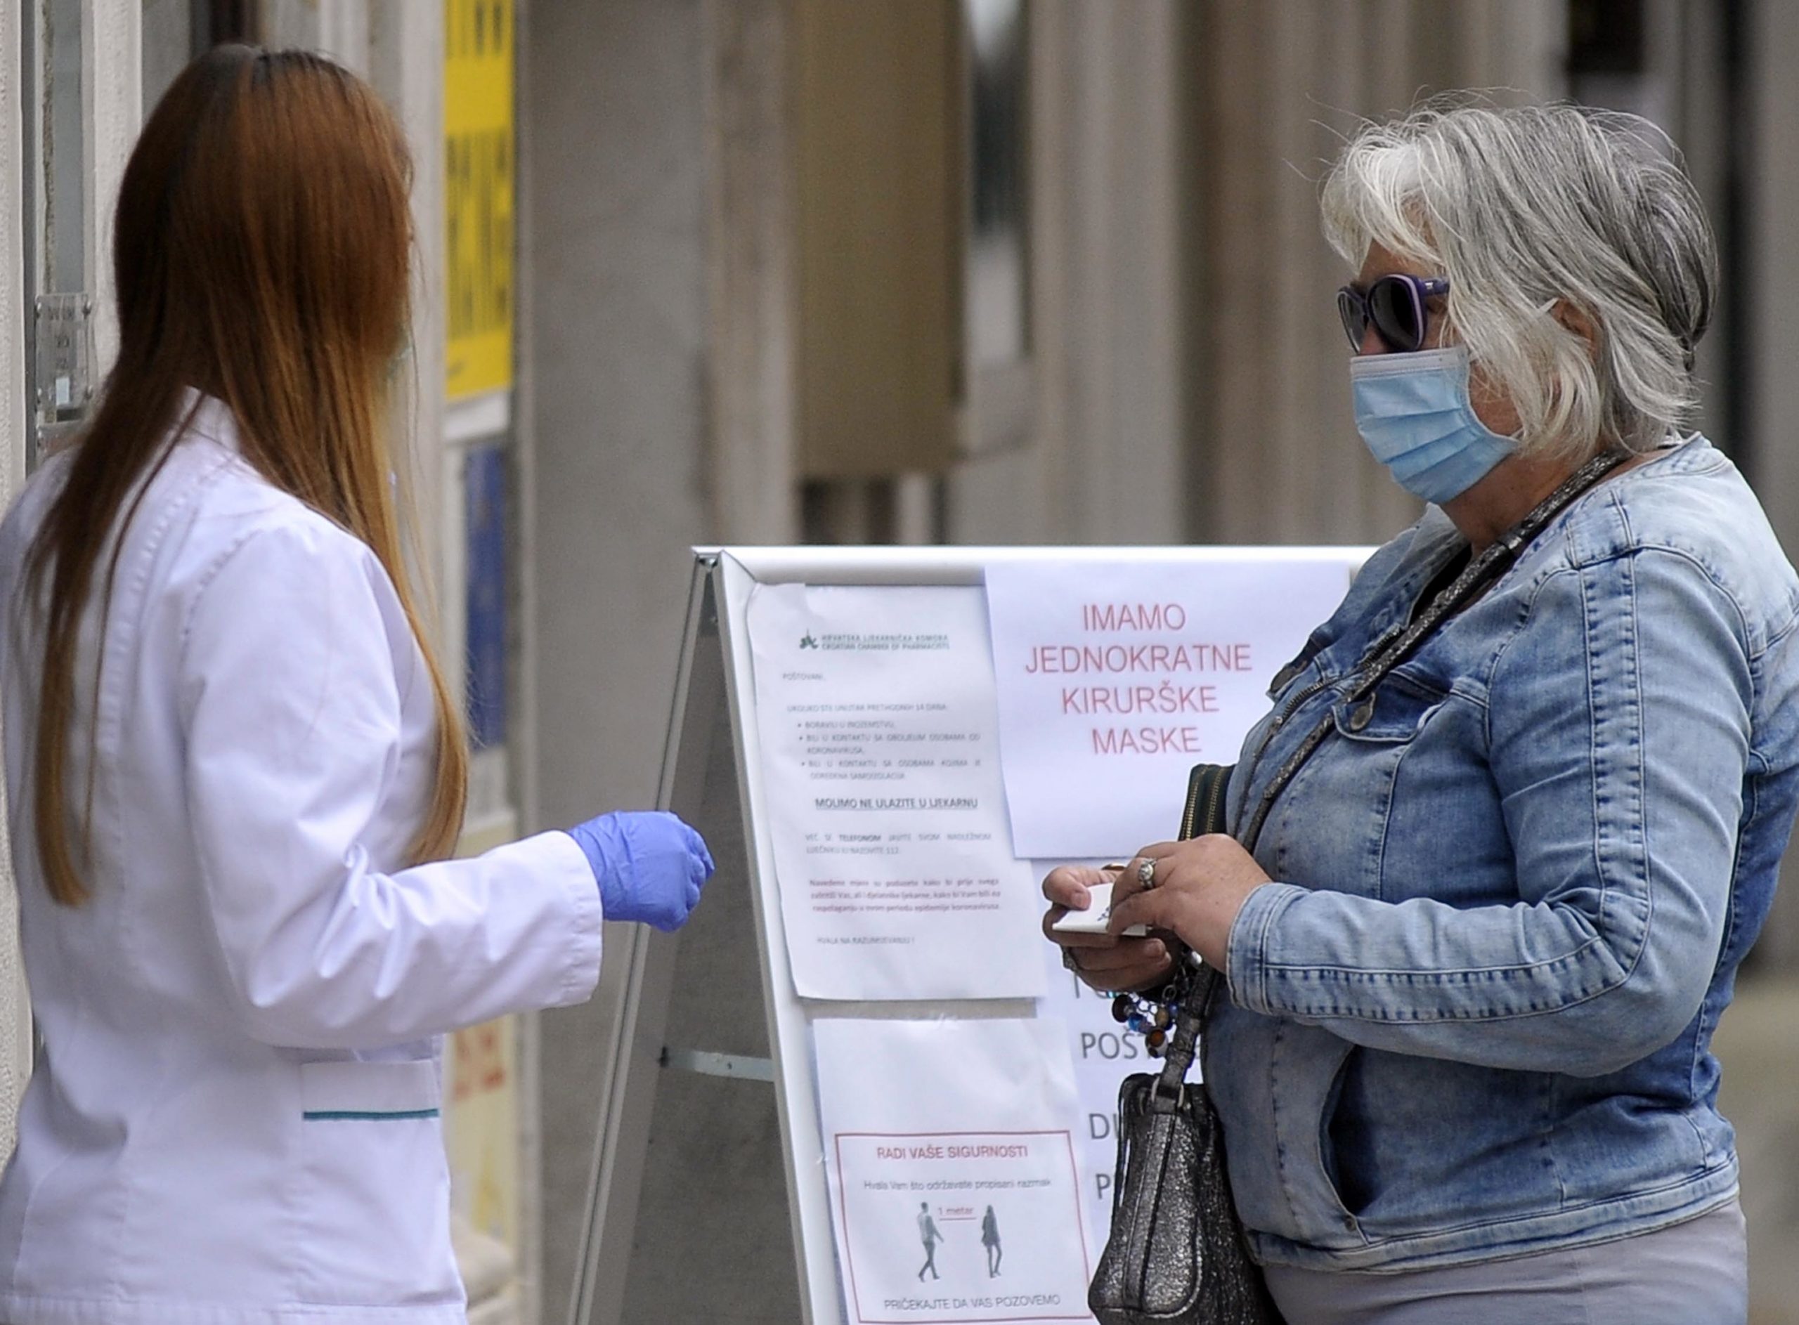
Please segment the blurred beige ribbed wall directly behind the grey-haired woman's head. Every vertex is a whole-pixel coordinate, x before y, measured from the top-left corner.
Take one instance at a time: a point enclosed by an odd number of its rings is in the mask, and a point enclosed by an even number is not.
[[[1031,18],[1038,424],[950,476],[948,538],[1367,543],[1414,520],[1349,417],[1317,182],[1337,135],[1421,93],[1558,95],[1563,0]]]

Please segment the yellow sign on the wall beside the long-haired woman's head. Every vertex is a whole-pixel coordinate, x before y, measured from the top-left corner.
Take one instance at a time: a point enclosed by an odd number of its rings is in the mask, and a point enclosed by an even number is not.
[[[446,394],[513,385],[513,0],[444,0]]]

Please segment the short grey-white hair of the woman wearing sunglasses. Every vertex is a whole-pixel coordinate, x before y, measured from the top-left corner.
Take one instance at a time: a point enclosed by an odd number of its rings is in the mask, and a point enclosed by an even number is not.
[[[1648,120],[1432,101],[1349,138],[1322,212],[1353,266],[1378,243],[1448,277],[1446,325],[1511,397],[1526,449],[1642,451],[1691,417],[1718,253],[1678,151]],[[1558,300],[1596,347],[1553,316]]]

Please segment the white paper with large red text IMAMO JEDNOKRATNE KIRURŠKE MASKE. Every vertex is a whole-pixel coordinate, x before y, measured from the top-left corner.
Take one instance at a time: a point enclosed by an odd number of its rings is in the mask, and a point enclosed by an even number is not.
[[[1124,859],[1175,836],[1195,764],[1236,762],[1349,563],[1033,561],[986,581],[1013,845]]]

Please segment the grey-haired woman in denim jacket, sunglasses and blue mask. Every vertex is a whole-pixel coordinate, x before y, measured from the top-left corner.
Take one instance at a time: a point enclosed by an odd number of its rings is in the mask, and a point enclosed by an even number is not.
[[[1295,1325],[1747,1314],[1709,1043],[1799,805],[1799,577],[1686,431],[1716,262],[1653,133],[1434,104],[1346,146],[1356,424],[1432,505],[1274,678],[1231,836],[1051,933],[1097,989],[1225,974],[1205,1082]]]

